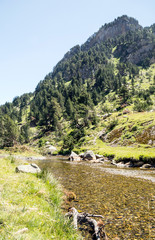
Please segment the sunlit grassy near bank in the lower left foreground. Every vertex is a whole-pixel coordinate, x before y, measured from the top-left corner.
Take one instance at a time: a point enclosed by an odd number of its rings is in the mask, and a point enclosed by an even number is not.
[[[61,212],[62,193],[52,176],[15,173],[0,159],[0,239],[79,239]]]

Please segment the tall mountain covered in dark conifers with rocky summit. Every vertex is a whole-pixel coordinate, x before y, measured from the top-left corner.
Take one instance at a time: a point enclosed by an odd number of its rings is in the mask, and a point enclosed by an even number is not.
[[[105,126],[106,135],[109,134],[105,137],[103,131],[97,136],[102,135],[102,141],[112,144],[114,137],[110,137],[110,132],[118,127],[119,114],[154,111],[154,90],[155,24],[143,28],[134,18],[118,17],[102,26],[83,45],[71,48],[38,83],[34,93],[16,97],[12,103],[0,107],[2,129],[9,122],[12,128],[17,125],[18,132],[11,143],[7,140],[9,143],[5,144],[5,131],[1,130],[0,146],[35,139],[41,146],[43,142],[39,139],[53,136],[53,144],[60,142],[62,149],[72,149],[85,144],[90,129],[98,129],[97,126],[99,129]],[[103,122],[105,114],[109,120]],[[106,121],[110,121],[109,125]],[[142,144],[140,134],[146,129],[135,129],[128,138],[125,138],[128,130],[116,131],[115,143]],[[150,138],[143,144],[150,141],[153,146],[150,129]]]

